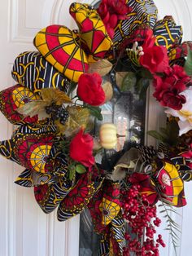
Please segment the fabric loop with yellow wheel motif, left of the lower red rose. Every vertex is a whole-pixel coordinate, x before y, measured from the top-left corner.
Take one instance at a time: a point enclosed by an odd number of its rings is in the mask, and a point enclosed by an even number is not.
[[[48,158],[54,138],[55,126],[20,126],[11,139],[0,143],[0,154],[27,169],[45,173],[53,168]]]

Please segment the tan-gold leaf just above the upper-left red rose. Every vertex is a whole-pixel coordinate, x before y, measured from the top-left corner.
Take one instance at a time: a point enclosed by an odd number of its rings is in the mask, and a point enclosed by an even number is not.
[[[98,73],[104,77],[111,71],[112,64],[108,60],[98,60],[97,62],[89,64],[88,73]]]

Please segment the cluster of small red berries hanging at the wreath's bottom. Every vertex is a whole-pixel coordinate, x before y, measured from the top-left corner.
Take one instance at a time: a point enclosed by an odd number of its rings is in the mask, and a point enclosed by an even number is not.
[[[154,236],[155,226],[159,227],[161,220],[156,217],[156,206],[149,204],[139,188],[139,185],[133,185],[121,190],[123,218],[130,228],[129,234],[124,235],[127,246],[123,255],[134,252],[137,256],[159,256],[159,245],[164,247],[165,244],[161,235],[156,241]]]

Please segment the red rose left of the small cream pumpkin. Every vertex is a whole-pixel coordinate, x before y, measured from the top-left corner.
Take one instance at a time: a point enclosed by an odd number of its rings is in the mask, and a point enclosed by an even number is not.
[[[93,137],[84,134],[83,129],[81,129],[70,143],[70,157],[86,167],[91,167],[94,165],[93,147]]]

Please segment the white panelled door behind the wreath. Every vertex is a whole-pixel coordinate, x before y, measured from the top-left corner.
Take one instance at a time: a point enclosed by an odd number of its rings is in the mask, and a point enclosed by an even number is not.
[[[0,7],[0,90],[14,85],[11,68],[22,51],[33,51],[35,33],[48,24],[74,23],[68,14],[72,0],[1,0]],[[91,1],[76,1],[91,2]],[[191,0],[155,0],[159,17],[172,15],[184,28],[184,39],[192,39]],[[158,111],[155,104],[153,109]],[[150,121],[149,126],[156,126]],[[13,127],[0,113],[0,140],[11,137]],[[34,200],[33,190],[20,188],[14,180],[22,169],[0,158],[0,256],[78,256],[79,218],[59,223],[55,214],[43,214]],[[185,186],[188,205],[183,210],[180,256],[190,256],[192,196]],[[168,244],[168,236],[166,242]],[[171,246],[161,255],[175,255]]]

